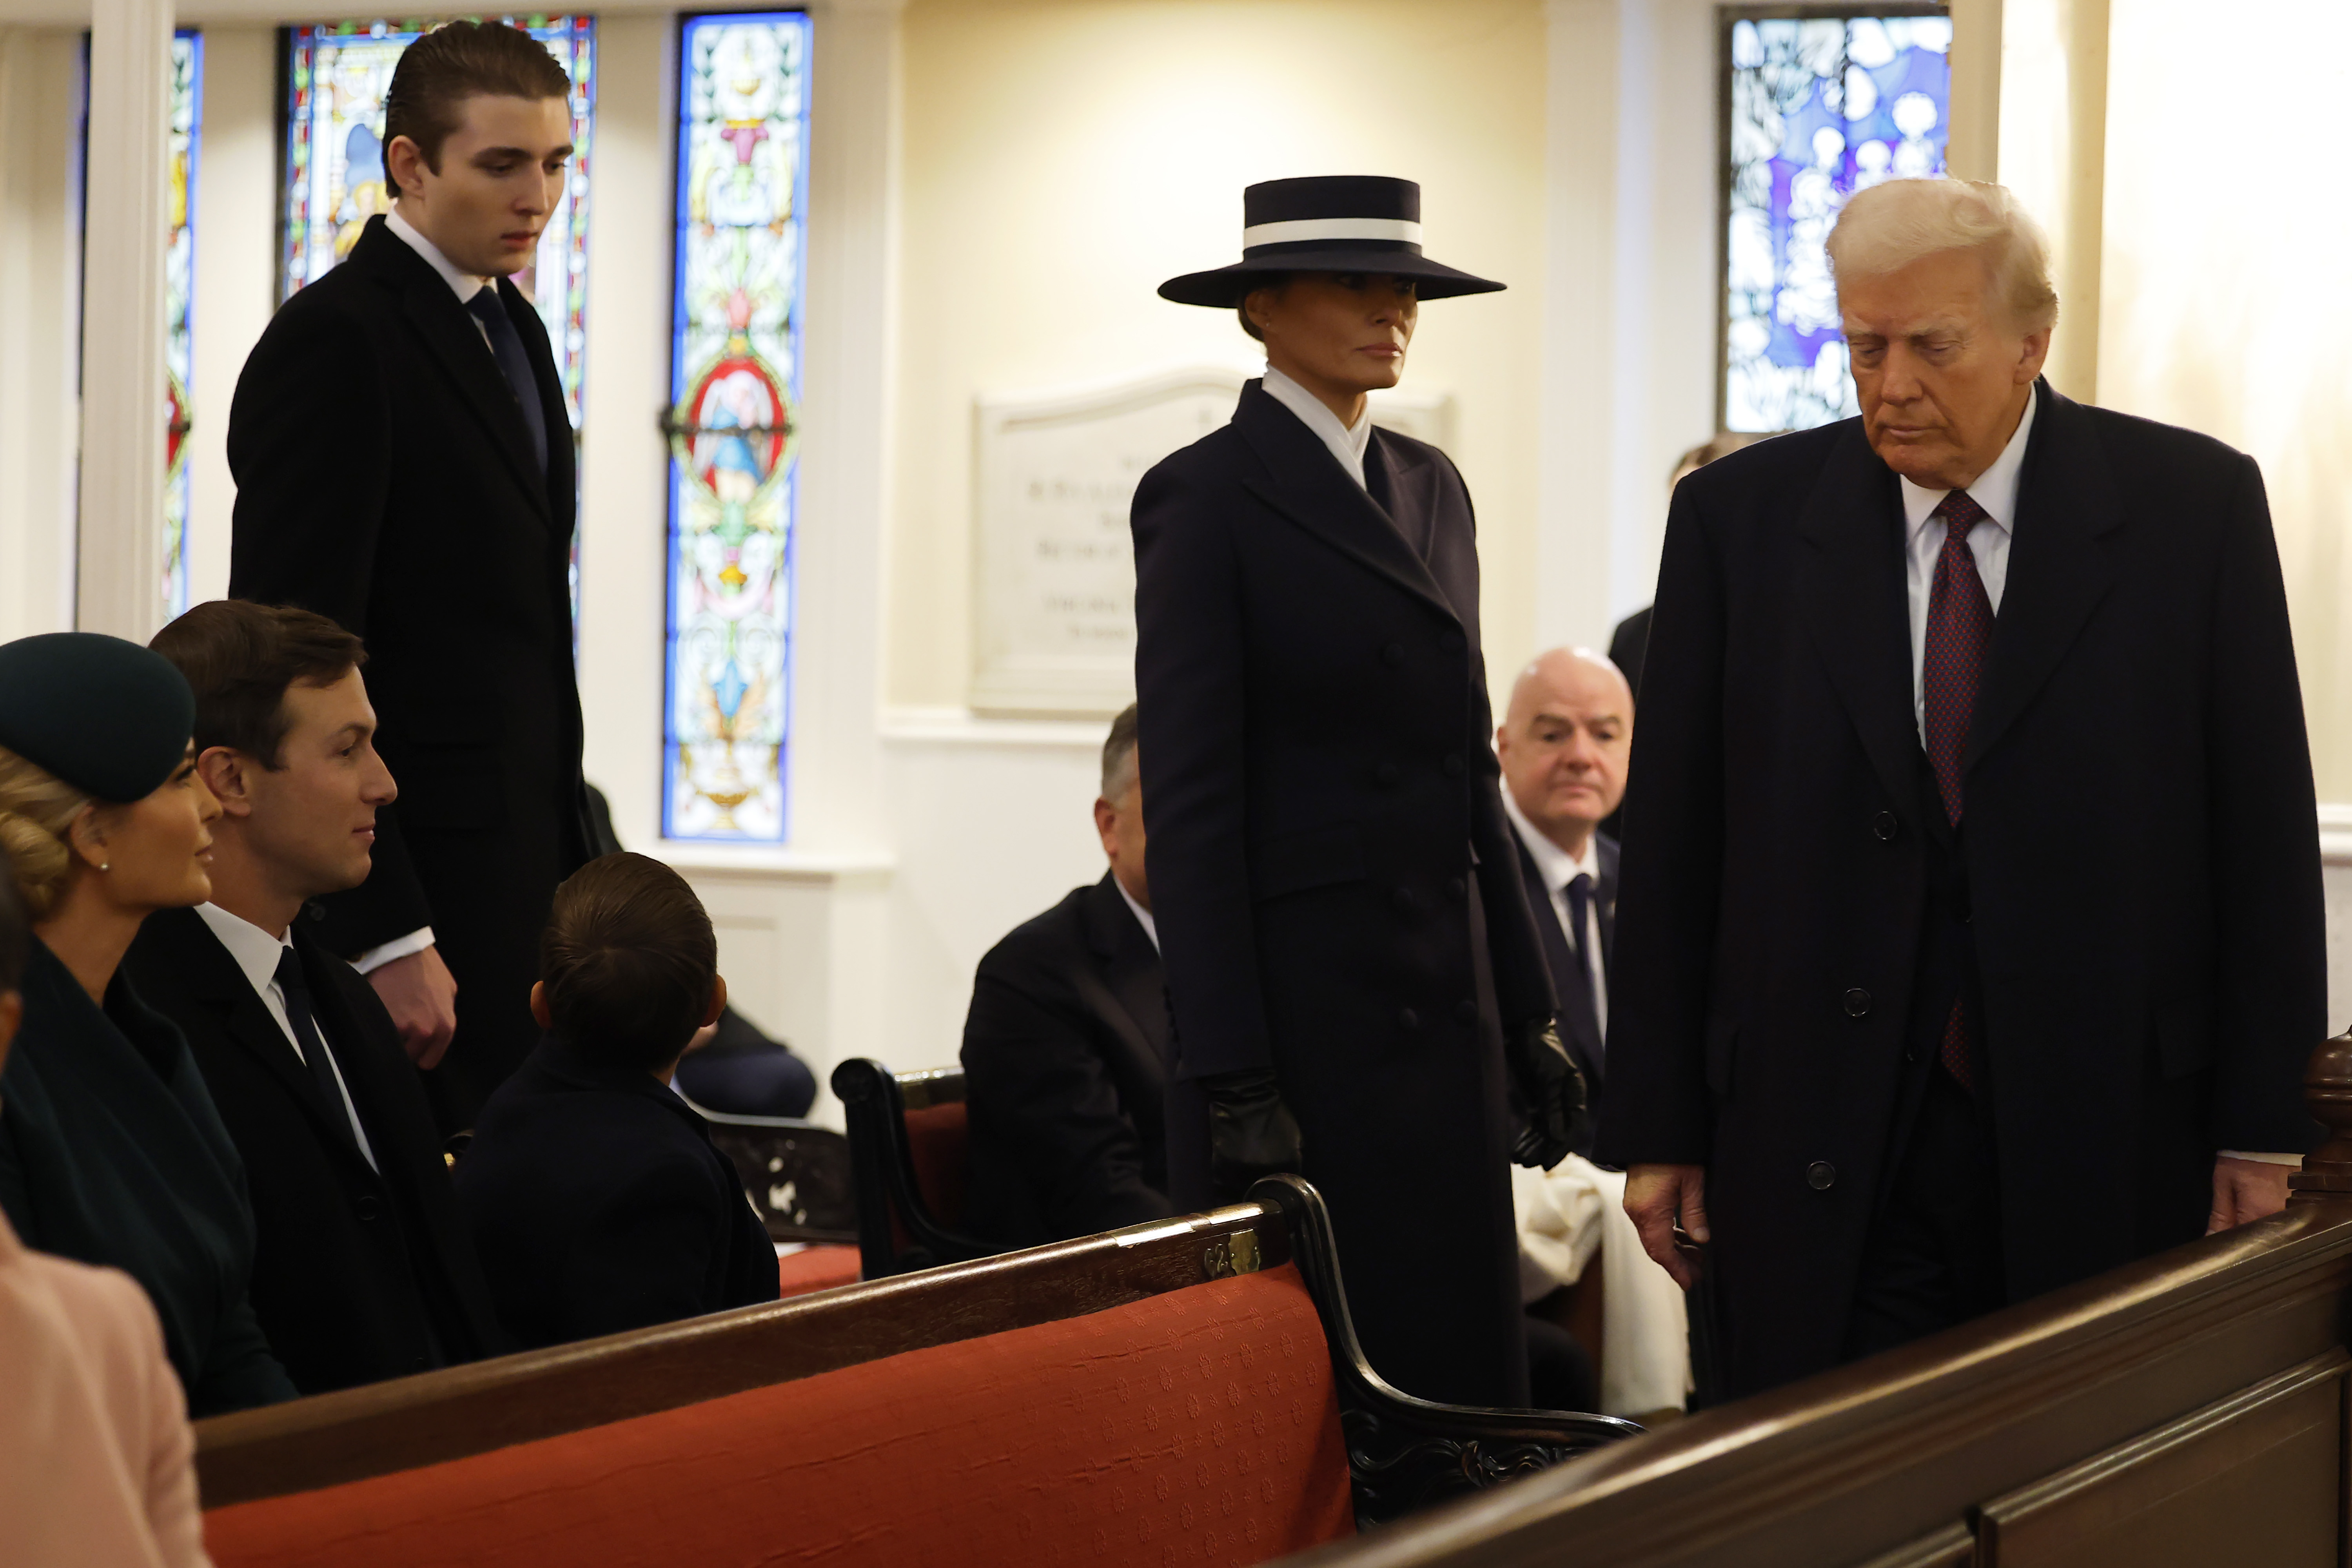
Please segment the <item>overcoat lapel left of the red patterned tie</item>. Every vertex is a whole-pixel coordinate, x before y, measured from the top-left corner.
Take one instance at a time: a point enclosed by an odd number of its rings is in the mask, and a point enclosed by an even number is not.
[[[1797,534],[1809,545],[1797,562],[1797,614],[1886,795],[1917,799],[1903,496],[1893,470],[1870,451],[1863,421],[1846,421],[1804,498]],[[1940,811],[1933,818],[1950,832]]]

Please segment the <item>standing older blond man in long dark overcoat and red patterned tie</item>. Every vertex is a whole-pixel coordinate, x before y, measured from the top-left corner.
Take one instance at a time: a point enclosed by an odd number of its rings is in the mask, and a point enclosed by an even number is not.
[[[1731,1394],[2277,1211],[2324,1032],[2253,461],[2039,381],[1999,186],[1830,256],[1863,414],[1675,494],[1618,912],[1599,1157]]]

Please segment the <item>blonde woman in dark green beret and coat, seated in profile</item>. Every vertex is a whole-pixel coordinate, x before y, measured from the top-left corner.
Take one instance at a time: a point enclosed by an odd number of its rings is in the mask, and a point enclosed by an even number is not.
[[[115,973],[139,922],[212,896],[195,698],[92,632],[0,646],[0,851],[33,919],[0,1070],[0,1211],[26,1246],[136,1279],[193,1415],[294,1399],[247,1281],[245,1168],[179,1030]]]

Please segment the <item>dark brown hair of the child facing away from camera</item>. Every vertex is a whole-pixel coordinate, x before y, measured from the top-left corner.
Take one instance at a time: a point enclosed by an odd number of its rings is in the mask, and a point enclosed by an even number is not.
[[[687,879],[621,851],[555,889],[539,978],[555,1034],[593,1063],[654,1072],[703,1027],[720,943]]]

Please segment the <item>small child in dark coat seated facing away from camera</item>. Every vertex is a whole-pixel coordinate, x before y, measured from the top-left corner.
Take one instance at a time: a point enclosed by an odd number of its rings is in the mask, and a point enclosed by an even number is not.
[[[489,1095],[456,1168],[499,1319],[524,1345],[776,1300],[776,1248],[673,1088],[727,1006],[684,877],[602,856],[555,889],[539,1048]]]

